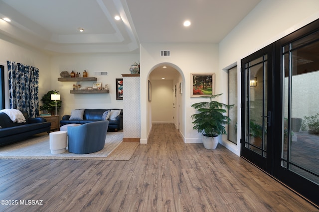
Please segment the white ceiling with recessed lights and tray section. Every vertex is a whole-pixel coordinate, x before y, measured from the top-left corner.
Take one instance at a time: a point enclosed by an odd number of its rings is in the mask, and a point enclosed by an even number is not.
[[[0,20],[0,38],[53,53],[138,53],[139,43],[219,43],[260,1],[0,0],[0,18],[11,19]]]

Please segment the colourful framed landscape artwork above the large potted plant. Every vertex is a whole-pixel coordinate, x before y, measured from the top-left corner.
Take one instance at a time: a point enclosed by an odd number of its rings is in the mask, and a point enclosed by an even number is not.
[[[215,73],[191,73],[190,81],[190,97],[214,95]]]

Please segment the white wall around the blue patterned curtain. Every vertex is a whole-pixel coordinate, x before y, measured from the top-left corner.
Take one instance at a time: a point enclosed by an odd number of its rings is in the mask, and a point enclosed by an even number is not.
[[[7,60],[34,66],[39,69],[39,105],[42,105],[40,101],[41,97],[51,88],[50,55],[17,42],[3,34],[0,34],[0,47],[0,64],[4,66],[5,79],[8,79]],[[5,107],[9,108],[7,80],[5,80]]]

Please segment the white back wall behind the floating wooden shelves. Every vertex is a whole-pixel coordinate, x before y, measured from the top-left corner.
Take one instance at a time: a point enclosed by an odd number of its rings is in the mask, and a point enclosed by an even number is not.
[[[139,54],[62,54],[52,56],[51,60],[51,89],[61,94],[62,106],[60,116],[70,114],[76,108],[120,108],[123,100],[116,100],[116,78],[123,78],[122,74],[130,74],[130,66],[139,61]],[[109,94],[70,94],[73,84],[81,87],[92,87],[93,82],[58,82],[62,71],[88,72],[88,77],[96,77],[102,87],[108,84]],[[94,72],[107,71],[108,75],[94,75]],[[124,85],[125,92],[125,85]]]

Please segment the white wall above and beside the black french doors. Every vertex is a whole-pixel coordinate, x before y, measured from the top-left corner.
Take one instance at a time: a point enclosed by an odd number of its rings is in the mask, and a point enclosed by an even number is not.
[[[319,18],[319,0],[262,0],[219,44],[219,70],[238,63],[238,91],[240,92],[240,60],[276,40]],[[222,72],[223,73],[223,72]],[[227,73],[222,75],[227,82]],[[223,92],[227,89],[223,87]],[[240,97],[240,93],[238,93]],[[238,99],[240,105],[241,99]],[[240,131],[240,108],[238,131]],[[222,142],[240,155],[240,143]]]

